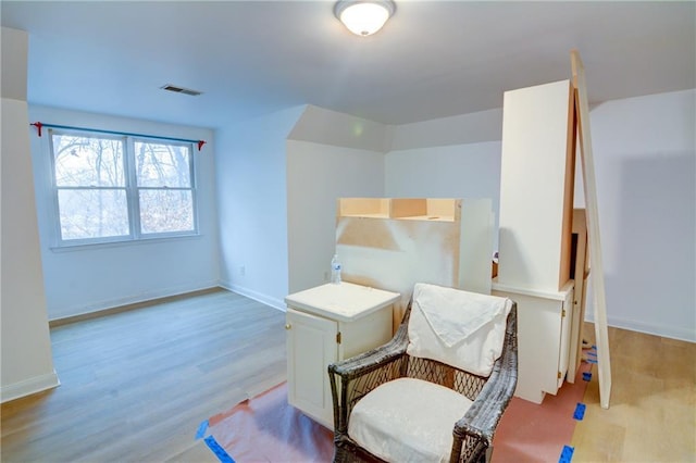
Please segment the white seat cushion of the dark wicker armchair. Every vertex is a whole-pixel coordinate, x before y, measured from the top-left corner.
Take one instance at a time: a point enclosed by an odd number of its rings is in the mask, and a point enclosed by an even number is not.
[[[422,379],[383,384],[352,409],[348,435],[388,462],[448,462],[452,430],[471,400]]]

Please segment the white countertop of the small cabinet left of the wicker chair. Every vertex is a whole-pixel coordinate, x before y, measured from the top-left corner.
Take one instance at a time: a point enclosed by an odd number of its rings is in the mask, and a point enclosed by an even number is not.
[[[340,322],[352,322],[386,305],[401,295],[352,283],[326,284],[285,298],[288,306]]]

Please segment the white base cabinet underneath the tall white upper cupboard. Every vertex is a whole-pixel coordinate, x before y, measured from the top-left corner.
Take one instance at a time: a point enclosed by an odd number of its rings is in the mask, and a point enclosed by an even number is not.
[[[560,291],[533,291],[493,284],[493,295],[518,303],[518,386],[514,395],[542,403],[556,395],[569,371],[573,280]],[[571,375],[574,370],[571,368]]]

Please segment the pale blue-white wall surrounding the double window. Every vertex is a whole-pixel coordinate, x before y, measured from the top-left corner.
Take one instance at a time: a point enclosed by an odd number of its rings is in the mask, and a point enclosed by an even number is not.
[[[201,151],[194,150],[200,236],[57,249],[49,137],[46,129],[42,137],[32,129],[49,318],[217,286],[212,130],[34,105],[29,108],[29,116],[32,122],[207,141]]]

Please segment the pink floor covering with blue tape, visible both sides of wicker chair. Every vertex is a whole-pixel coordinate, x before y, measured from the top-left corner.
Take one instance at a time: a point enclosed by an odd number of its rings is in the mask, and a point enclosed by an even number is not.
[[[498,426],[493,462],[558,462],[570,445],[587,383],[583,363],[574,384],[566,383],[557,396],[540,405],[513,398]],[[286,384],[244,401],[207,422],[206,435],[219,445],[222,462],[331,462],[333,433],[287,403]],[[202,436],[198,436],[202,437]],[[213,447],[211,447],[213,449]],[[214,449],[213,449],[214,451]]]

